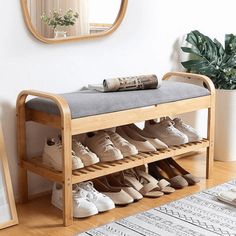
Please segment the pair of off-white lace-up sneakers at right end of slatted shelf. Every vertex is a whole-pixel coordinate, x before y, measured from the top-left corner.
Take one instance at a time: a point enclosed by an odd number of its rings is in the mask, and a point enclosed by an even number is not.
[[[197,131],[185,124],[180,118],[171,120],[166,117],[160,122],[146,121],[144,131],[157,137],[168,146],[181,145],[201,139]]]

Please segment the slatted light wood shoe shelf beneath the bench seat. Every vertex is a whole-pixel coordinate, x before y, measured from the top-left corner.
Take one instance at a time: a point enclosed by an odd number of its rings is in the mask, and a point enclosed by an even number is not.
[[[151,163],[167,157],[174,157],[184,153],[209,147],[209,141],[202,139],[201,141],[183,144],[180,146],[172,146],[168,149],[159,150],[152,153],[139,153],[138,155],[125,157],[119,161],[100,162],[95,165],[74,170],[72,172],[72,184],[95,179],[104,175],[112,174],[118,171],[134,168],[143,164]],[[23,167],[33,173],[41,175],[49,180],[63,182],[63,174],[42,163],[42,158],[34,157],[30,160],[23,161]]]

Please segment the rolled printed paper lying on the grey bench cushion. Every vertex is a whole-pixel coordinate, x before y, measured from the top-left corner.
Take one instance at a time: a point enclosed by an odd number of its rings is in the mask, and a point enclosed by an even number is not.
[[[103,81],[104,92],[156,89],[160,86],[161,79],[158,79],[156,75],[120,77]]]

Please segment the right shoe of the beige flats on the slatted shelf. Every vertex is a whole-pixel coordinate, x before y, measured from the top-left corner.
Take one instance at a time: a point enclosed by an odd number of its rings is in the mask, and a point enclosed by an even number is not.
[[[168,146],[165,143],[163,143],[161,140],[159,140],[158,138],[155,138],[154,136],[150,135],[145,130],[140,129],[135,124],[130,124],[130,125],[128,125],[128,127],[133,129],[137,133],[137,135],[139,135],[142,138],[149,141],[156,149],[166,149],[166,148],[168,148]]]

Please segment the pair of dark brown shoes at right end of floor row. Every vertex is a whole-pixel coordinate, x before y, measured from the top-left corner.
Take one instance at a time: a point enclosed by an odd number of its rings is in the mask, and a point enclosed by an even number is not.
[[[176,189],[194,185],[200,181],[199,178],[183,169],[172,158],[148,164],[148,171],[156,179],[166,179],[170,182],[171,186]]]

